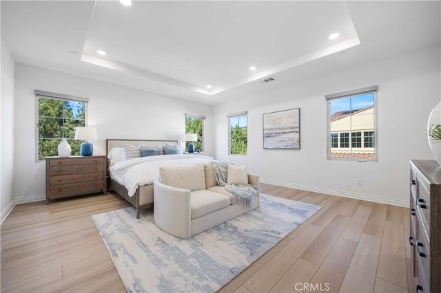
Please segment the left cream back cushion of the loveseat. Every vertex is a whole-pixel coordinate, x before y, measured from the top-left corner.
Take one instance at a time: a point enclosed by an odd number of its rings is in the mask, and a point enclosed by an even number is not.
[[[205,189],[205,172],[202,164],[159,168],[159,181],[176,188],[197,191]]]

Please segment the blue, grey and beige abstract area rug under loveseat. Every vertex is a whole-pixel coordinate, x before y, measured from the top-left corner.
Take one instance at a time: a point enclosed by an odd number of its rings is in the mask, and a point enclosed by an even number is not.
[[[260,208],[186,240],[158,228],[152,209],[92,218],[127,292],[216,292],[319,209],[260,194]]]

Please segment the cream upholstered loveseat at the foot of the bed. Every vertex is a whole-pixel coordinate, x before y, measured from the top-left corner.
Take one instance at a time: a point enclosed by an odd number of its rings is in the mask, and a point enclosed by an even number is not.
[[[258,175],[248,182],[259,186]],[[167,167],[154,182],[154,221],[165,232],[188,239],[259,206],[259,193],[247,208],[218,186],[210,164]]]

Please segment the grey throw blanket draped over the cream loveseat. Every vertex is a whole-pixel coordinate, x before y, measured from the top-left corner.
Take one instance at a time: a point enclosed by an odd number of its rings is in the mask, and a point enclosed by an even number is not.
[[[229,184],[227,183],[228,163],[211,162],[211,164],[216,182],[232,193],[238,202],[250,208],[253,199],[257,196],[258,187],[251,184]]]

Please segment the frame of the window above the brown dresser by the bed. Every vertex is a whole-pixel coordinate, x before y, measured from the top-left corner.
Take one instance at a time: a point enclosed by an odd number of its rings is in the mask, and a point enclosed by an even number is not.
[[[66,94],[52,93],[50,91],[34,90],[35,98],[35,140],[34,140],[34,155],[35,162],[45,162],[45,160],[39,160],[40,144],[39,144],[39,98],[49,98],[52,100],[62,100],[70,102],[83,102],[84,103],[84,126],[88,126],[88,110],[89,110],[89,98],[83,98],[79,96],[70,96]],[[64,133],[63,133],[64,138]]]

